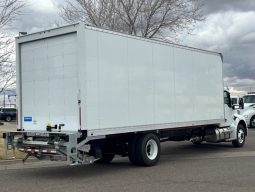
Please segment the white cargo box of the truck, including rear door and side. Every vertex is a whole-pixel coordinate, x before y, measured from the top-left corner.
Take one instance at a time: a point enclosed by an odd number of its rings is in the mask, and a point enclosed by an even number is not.
[[[20,38],[22,129],[61,123],[104,135],[224,120],[220,54],[88,27],[61,31]]]

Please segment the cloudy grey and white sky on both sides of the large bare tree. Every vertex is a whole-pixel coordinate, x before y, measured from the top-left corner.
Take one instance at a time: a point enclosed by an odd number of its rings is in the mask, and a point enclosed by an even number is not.
[[[12,30],[35,32],[59,21],[64,0],[27,0],[25,14]],[[255,0],[204,0],[206,20],[182,44],[221,52],[225,86],[236,94],[255,91]]]

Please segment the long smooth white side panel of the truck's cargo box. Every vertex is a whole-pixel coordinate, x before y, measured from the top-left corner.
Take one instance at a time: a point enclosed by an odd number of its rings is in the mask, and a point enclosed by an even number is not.
[[[220,55],[90,29],[84,35],[84,129],[224,119]]]

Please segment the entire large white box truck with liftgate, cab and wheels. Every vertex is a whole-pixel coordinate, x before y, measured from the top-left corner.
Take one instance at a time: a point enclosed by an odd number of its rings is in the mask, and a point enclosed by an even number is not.
[[[5,139],[26,158],[152,166],[163,141],[245,142],[219,53],[84,24],[17,37],[16,48],[18,129]]]

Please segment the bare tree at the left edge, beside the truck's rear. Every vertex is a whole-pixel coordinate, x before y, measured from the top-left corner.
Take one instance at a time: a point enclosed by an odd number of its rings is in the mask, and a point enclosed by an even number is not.
[[[0,93],[15,84],[14,39],[7,29],[23,7],[22,0],[0,0]]]

